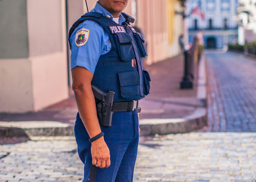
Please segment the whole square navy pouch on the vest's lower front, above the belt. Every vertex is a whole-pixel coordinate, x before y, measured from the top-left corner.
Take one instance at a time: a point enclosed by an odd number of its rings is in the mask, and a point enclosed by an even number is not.
[[[134,100],[140,96],[140,81],[137,71],[118,73],[118,78],[122,98]]]

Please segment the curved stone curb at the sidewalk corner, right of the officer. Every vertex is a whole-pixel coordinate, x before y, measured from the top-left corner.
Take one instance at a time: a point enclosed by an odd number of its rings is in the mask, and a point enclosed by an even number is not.
[[[140,135],[166,135],[166,134],[177,134],[187,133],[195,131],[207,126],[207,78],[206,78],[206,58],[202,55],[199,62],[198,68],[198,81],[197,81],[197,99],[202,100],[205,103],[204,108],[196,108],[195,112],[191,115],[184,116],[176,119],[154,119],[155,123],[152,124],[152,119],[149,124],[140,124]],[[177,120],[179,122],[177,122]],[[169,122],[167,122],[169,121]]]

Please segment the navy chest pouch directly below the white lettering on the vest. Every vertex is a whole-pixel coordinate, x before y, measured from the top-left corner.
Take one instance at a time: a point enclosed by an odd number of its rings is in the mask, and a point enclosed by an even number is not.
[[[128,33],[116,33],[114,35],[119,57],[122,61],[131,61],[135,58],[132,47],[132,38]]]

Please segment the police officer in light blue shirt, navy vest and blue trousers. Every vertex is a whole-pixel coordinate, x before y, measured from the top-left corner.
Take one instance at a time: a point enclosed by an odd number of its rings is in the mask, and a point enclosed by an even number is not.
[[[121,13],[128,0],[99,0],[69,31],[72,88],[78,105],[75,138],[84,182],[131,182],[139,141],[138,100],[149,93],[143,36]],[[99,122],[91,86],[114,91],[111,126]],[[96,102],[95,102],[96,101]]]

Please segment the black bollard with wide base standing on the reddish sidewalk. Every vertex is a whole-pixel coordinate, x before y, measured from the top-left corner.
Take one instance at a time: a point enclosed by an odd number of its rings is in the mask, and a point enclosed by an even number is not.
[[[183,88],[193,88],[193,82],[189,79],[189,64],[188,64],[188,61],[189,61],[189,56],[191,56],[189,54],[189,51],[184,51],[184,77],[182,79],[182,82],[180,82],[180,88],[183,89]]]

